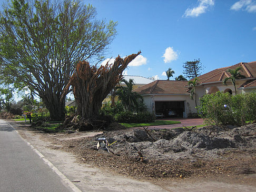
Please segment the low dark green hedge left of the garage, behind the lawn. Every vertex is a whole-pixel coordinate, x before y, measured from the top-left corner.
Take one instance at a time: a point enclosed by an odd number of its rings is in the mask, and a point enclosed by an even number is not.
[[[150,123],[155,121],[155,116],[149,112],[132,113],[129,111],[115,115],[119,123]]]

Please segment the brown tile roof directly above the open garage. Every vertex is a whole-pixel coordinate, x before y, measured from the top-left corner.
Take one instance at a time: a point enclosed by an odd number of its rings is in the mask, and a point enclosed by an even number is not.
[[[155,80],[134,90],[141,95],[147,94],[188,94],[184,86],[188,84],[187,80]]]

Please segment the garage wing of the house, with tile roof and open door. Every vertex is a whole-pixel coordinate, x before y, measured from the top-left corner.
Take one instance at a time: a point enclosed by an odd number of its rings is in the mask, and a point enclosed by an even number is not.
[[[156,80],[134,92],[142,95],[147,110],[151,113],[168,116],[170,111],[174,111],[177,117],[188,117],[195,104],[191,102],[190,93],[186,92],[186,85],[187,80]]]

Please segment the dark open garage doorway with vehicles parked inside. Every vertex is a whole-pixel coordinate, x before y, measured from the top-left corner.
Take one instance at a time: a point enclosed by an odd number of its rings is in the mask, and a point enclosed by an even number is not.
[[[155,113],[162,113],[165,117],[183,117],[184,101],[155,102]]]

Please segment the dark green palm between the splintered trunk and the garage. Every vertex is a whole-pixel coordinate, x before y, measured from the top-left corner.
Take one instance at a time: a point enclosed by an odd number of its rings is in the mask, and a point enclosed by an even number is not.
[[[119,96],[119,100],[121,100],[121,103],[124,105],[126,110],[137,110],[140,105],[138,99],[143,100],[143,98],[140,94],[132,91],[132,87],[134,85],[133,79],[129,79],[129,82],[125,79],[122,79],[121,82],[125,83],[126,87],[116,87],[116,95]]]

